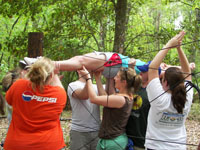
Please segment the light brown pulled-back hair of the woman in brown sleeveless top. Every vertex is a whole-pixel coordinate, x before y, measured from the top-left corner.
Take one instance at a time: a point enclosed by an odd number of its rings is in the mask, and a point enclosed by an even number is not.
[[[120,68],[121,80],[126,80],[127,89],[129,93],[135,93],[139,90],[142,78],[137,75],[135,70],[132,68]]]

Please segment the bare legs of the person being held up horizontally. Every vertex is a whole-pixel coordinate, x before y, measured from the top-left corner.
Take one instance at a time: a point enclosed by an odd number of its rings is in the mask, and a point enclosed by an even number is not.
[[[106,62],[105,55],[88,53],[85,55],[74,56],[68,60],[55,61],[56,69],[60,71],[75,71],[85,66],[88,70],[102,71]]]

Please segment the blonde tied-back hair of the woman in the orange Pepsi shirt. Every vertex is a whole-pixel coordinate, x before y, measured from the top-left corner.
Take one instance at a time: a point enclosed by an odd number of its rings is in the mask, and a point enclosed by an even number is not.
[[[49,58],[42,57],[32,64],[27,73],[27,78],[32,82],[32,88],[43,90],[51,74],[54,71],[54,63]]]

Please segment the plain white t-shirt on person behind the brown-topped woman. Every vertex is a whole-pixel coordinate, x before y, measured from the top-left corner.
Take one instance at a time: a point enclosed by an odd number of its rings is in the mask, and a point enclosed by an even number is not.
[[[72,97],[77,89],[83,89],[85,83],[75,81],[69,84],[67,94],[72,107],[72,124],[71,130],[78,132],[98,131],[100,126],[100,109],[99,106],[90,102],[90,100],[79,100]],[[97,92],[97,86],[93,84]]]

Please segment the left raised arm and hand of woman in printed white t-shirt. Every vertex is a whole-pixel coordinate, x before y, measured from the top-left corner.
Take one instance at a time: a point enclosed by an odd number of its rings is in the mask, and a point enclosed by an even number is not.
[[[171,48],[177,47],[179,45],[179,43],[180,43],[180,41],[182,41],[184,35],[185,35],[185,32],[181,31],[179,34],[177,34],[171,40],[169,40],[167,42],[167,44],[163,47],[163,49],[157,53],[157,55],[154,57],[151,64],[149,65],[149,71],[148,71],[148,78],[149,78],[148,80],[149,81],[151,81],[154,78],[159,77],[158,68],[159,68],[160,64],[162,63],[163,59],[167,55],[168,51]]]

